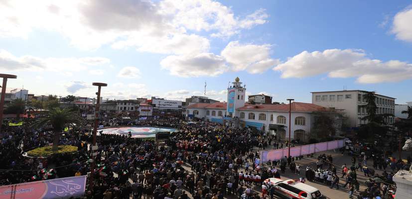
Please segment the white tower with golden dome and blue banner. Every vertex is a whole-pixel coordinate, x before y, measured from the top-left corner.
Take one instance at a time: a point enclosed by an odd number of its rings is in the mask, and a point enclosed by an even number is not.
[[[239,117],[237,108],[243,107],[246,100],[246,88],[242,87],[239,77],[236,77],[235,82],[232,82],[233,87],[228,88],[228,105],[226,111],[228,115]]]

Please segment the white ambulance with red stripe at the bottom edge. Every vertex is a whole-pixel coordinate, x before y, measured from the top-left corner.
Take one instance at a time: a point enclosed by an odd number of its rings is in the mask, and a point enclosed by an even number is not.
[[[299,182],[299,180],[281,180],[269,178],[266,183],[275,186],[275,195],[286,199],[326,199],[318,189]]]

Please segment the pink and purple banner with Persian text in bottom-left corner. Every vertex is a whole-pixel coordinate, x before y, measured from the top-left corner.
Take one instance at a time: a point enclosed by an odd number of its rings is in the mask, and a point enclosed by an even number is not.
[[[0,199],[68,199],[84,195],[86,176],[58,178],[0,187]]]

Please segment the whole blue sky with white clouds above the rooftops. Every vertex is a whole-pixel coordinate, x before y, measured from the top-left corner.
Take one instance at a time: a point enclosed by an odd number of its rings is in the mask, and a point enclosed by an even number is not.
[[[99,2],[99,3],[97,3]],[[312,91],[412,100],[412,1],[1,1],[0,70],[35,95],[105,99]]]

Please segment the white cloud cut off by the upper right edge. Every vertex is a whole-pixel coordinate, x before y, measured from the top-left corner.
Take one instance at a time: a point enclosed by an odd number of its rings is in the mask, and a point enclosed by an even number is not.
[[[392,33],[396,38],[412,42],[412,6],[398,12],[394,17]]]

